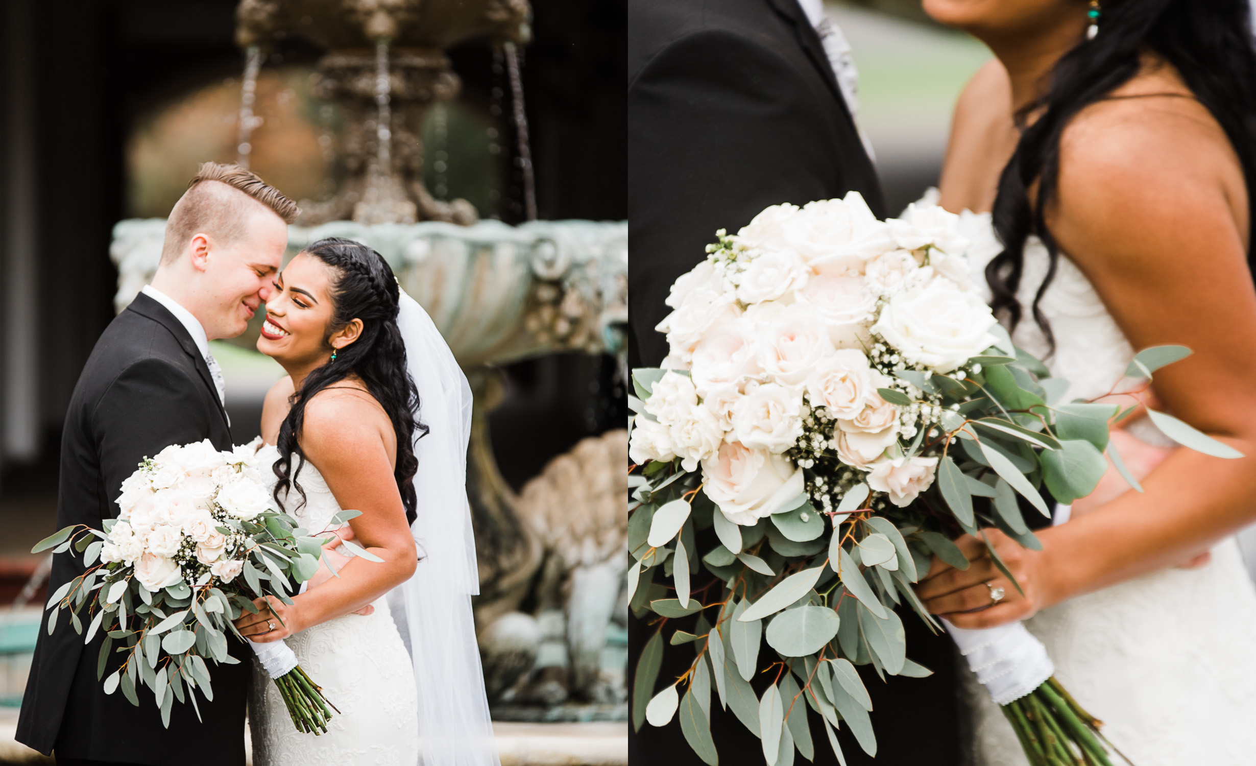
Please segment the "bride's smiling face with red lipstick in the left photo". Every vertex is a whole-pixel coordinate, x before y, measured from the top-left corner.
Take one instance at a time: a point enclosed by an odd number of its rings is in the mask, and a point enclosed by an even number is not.
[[[357,320],[328,333],[335,316],[337,276],[322,260],[308,252],[298,254],[275,279],[257,350],[285,367],[317,367],[330,359],[333,348],[355,340],[360,332]]]

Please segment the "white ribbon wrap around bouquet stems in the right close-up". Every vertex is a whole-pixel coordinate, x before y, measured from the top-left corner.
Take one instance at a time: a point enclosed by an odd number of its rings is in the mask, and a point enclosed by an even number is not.
[[[980,630],[942,623],[996,704],[1020,699],[1055,673],[1046,647],[1020,623]]]

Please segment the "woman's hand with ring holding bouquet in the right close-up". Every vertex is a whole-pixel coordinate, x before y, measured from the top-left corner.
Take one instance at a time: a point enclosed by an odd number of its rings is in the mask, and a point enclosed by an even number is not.
[[[956,569],[934,556],[924,580],[916,585],[924,608],[957,628],[993,628],[1032,617],[1053,603],[1042,553],[1021,548],[997,529],[983,531],[1025,593],[999,571],[981,540],[963,535],[955,544],[968,569]],[[1004,589],[1004,596],[995,604],[991,591],[997,588]]]

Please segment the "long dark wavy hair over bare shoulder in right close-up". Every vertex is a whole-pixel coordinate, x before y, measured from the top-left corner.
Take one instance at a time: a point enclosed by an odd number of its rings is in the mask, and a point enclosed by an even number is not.
[[[1080,10],[1079,10],[1080,13]],[[1196,99],[1230,138],[1248,188],[1250,218],[1256,225],[1256,48],[1247,0],[1103,0],[1099,34],[1060,58],[1050,87],[1016,114],[1024,127],[1011,161],[999,178],[992,220],[1004,251],[986,266],[991,306],[1012,326],[1021,320],[1016,299],[1025,266],[1025,240],[1036,234],[1050,256],[1046,278],[1034,295],[1031,313],[1054,348],[1039,303],[1055,278],[1059,247],[1044,220],[1054,200],[1060,170],[1060,134],[1086,105],[1109,98],[1138,73],[1139,53],[1150,49],[1177,68]],[[1029,190],[1039,181],[1037,198]],[[1256,240],[1256,237],[1253,237]],[[1253,264],[1248,246],[1247,262]]]

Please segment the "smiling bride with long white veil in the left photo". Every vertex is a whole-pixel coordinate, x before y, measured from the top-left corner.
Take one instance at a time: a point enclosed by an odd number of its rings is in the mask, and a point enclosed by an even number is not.
[[[288,370],[261,421],[276,502],[376,560],[328,545],[291,605],[259,599],[236,620],[285,639],[339,711],[327,735],[298,732],[257,666],[254,763],[496,766],[470,603],[471,392],[452,353],[383,257],[339,237],[279,275],[257,349]],[[360,515],[335,529],[342,509]]]

